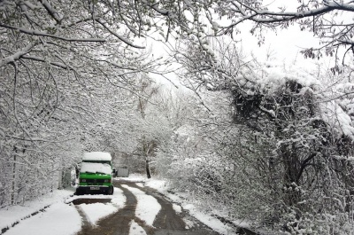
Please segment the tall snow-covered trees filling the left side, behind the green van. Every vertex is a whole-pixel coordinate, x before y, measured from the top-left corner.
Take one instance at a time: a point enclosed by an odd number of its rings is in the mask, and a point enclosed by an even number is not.
[[[118,20],[105,4],[0,3],[1,205],[58,187],[53,172],[82,151],[127,143],[119,133],[129,113],[123,94],[135,92],[135,74],[159,70],[130,41],[129,13]]]

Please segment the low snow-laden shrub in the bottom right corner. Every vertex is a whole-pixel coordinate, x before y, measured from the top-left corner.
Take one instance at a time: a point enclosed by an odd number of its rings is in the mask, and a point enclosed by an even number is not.
[[[301,201],[297,207],[287,208],[278,225],[290,234],[350,235],[354,233],[353,200],[353,195],[345,190],[318,195]]]

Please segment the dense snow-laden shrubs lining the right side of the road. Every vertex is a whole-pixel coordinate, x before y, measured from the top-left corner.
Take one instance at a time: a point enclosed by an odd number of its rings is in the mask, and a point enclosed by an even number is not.
[[[166,176],[255,227],[289,234],[354,231],[354,125],[350,106],[343,106],[350,102],[334,98],[330,83],[301,68],[249,63],[242,73],[218,75],[209,89],[231,94],[233,123],[212,116],[210,125],[178,138]]]

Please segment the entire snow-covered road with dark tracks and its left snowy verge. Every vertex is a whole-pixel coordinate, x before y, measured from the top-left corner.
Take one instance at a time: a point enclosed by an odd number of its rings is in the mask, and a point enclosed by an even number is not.
[[[6,211],[0,210],[0,229],[9,227],[3,231],[5,235],[235,234],[235,228],[197,212],[193,205],[182,205],[181,201],[173,203],[152,189],[161,187],[160,184],[159,181],[142,184],[116,180],[113,195],[66,196],[65,200],[56,199],[50,207],[23,220],[21,218],[28,213],[25,211],[30,211],[31,207],[24,206],[23,213],[19,207],[9,208],[8,214],[16,215],[8,220],[3,220]],[[49,203],[50,200],[46,202]],[[16,216],[18,219],[14,221]],[[18,224],[12,227],[14,222]]]

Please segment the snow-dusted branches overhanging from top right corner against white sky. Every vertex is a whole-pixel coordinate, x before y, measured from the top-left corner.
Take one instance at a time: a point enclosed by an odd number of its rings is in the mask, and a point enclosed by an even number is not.
[[[244,21],[252,21],[250,32],[258,35],[259,43],[263,43],[266,29],[288,28],[297,24],[301,30],[308,30],[317,36],[322,45],[319,48],[304,50],[304,56],[319,58],[324,54],[335,56],[338,49],[344,53],[353,53],[353,20],[354,4],[352,1],[250,1],[233,0],[217,2],[212,7],[219,17],[227,18],[223,22],[212,19],[215,34],[233,35],[240,31]],[[219,23],[218,23],[219,22]],[[345,56],[345,55],[344,55]]]

